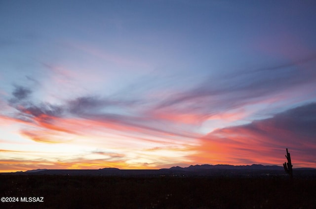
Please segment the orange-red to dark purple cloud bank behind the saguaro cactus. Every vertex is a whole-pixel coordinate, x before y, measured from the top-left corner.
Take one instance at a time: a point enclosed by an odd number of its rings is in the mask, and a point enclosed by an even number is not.
[[[289,148],[295,166],[316,167],[316,103],[273,118],[217,129],[200,139],[193,159],[200,163],[281,164]]]

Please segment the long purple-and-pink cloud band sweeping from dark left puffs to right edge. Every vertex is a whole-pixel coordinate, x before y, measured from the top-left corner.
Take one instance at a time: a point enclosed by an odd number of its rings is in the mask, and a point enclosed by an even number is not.
[[[66,132],[72,127],[65,124],[64,119],[80,119],[87,124],[98,124],[120,132],[194,139],[199,135],[195,133],[196,127],[205,120],[224,116],[227,111],[238,112],[247,105],[284,100],[284,94],[279,94],[306,84],[315,86],[314,71],[302,67],[314,61],[314,57],[306,58],[220,78],[209,77],[195,88],[165,94],[154,102],[86,95],[64,101],[61,105],[35,104],[28,101],[31,90],[17,87],[12,94],[20,100],[11,105],[19,111],[17,119],[32,121],[40,128]],[[61,124],[65,126],[61,127]]]

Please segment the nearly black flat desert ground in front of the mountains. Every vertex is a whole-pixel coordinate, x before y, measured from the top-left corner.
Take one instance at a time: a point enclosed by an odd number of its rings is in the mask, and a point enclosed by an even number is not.
[[[303,178],[0,175],[0,197],[19,200],[1,209],[315,209],[315,194]]]

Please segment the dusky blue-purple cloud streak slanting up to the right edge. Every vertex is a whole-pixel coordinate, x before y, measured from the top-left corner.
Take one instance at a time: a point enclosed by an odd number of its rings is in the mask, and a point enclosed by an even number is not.
[[[304,69],[302,64],[311,63]],[[162,101],[158,108],[166,108],[177,104],[208,100],[214,106],[234,108],[245,101],[273,95],[295,86],[316,81],[316,72],[311,68],[316,66],[316,57],[298,60],[294,63],[261,68],[258,70],[227,74],[222,78],[210,77],[196,88],[180,92]],[[220,105],[219,105],[220,103]]]

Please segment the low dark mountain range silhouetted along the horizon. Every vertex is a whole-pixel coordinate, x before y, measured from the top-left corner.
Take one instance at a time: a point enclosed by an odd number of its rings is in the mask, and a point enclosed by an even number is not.
[[[296,176],[315,176],[316,169],[297,168],[293,169]],[[86,169],[86,170],[58,170],[37,169],[26,172],[0,173],[11,175],[68,175],[68,176],[137,176],[137,177],[190,177],[190,176],[284,176],[286,175],[282,166],[276,165],[191,165],[189,167],[171,167],[156,170],[124,170],[118,168]]]

